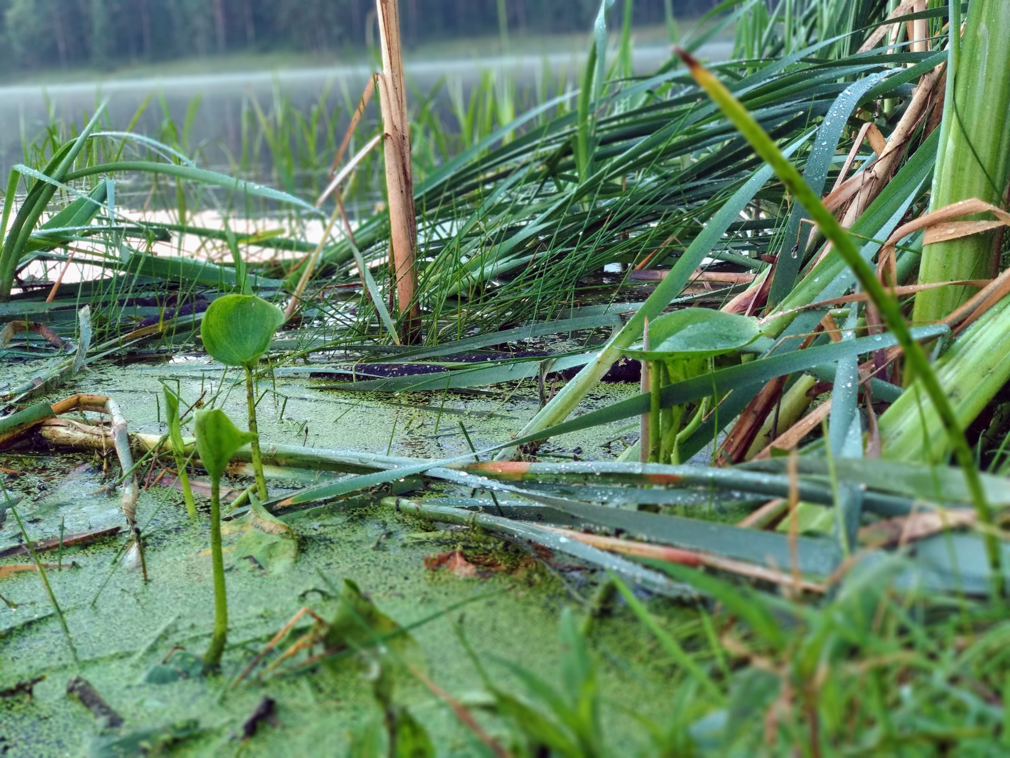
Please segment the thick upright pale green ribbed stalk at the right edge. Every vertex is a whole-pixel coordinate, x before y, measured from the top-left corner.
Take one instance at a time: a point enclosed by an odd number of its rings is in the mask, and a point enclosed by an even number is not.
[[[960,0],[950,2],[951,30],[960,27]],[[930,210],[977,197],[1001,205],[1010,178],[1010,2],[973,0],[962,42],[951,31],[941,141]],[[952,81],[951,81],[952,80]],[[919,283],[988,279],[994,234],[934,243],[922,249]],[[972,294],[938,287],[915,296],[912,320],[934,321]]]

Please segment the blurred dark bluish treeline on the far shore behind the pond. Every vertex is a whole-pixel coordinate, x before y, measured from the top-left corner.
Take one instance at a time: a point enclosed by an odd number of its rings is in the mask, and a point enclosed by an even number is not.
[[[623,15],[611,10],[616,26]],[[636,24],[669,10],[696,16],[714,0],[633,0]],[[589,31],[599,0],[399,0],[404,42]],[[235,51],[326,54],[375,38],[374,0],[0,0],[0,63],[8,69],[108,68]],[[6,59],[6,60],[4,60]]]

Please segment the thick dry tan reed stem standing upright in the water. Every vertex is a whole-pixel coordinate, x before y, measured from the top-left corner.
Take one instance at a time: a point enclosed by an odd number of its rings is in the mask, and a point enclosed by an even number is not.
[[[382,105],[386,190],[389,201],[389,263],[396,282],[400,309],[400,339],[404,345],[420,341],[421,311],[417,304],[417,218],[414,214],[414,180],[410,160],[410,121],[403,85],[400,55],[400,15],[396,0],[376,0],[383,75]]]

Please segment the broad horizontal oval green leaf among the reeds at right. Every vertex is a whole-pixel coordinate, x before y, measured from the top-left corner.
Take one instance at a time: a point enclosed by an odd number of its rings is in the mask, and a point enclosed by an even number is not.
[[[638,344],[621,352],[643,361],[712,358],[749,345],[760,334],[753,318],[709,308],[686,308],[666,313],[648,324],[647,351]]]

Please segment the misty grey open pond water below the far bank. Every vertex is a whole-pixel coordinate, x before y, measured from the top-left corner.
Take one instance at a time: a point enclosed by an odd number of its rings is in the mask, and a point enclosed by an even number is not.
[[[702,58],[719,60],[732,51],[729,42],[712,42],[700,51]],[[636,74],[654,71],[670,56],[668,45],[636,48],[632,67]],[[489,57],[480,60],[454,59],[443,61],[405,62],[405,77],[416,103],[444,80],[438,94],[438,107],[443,123],[453,124],[449,89],[464,97],[487,72],[508,77],[515,82],[520,97],[529,97],[549,72],[551,87],[559,81],[575,87],[584,64],[584,56],[574,53],[553,53],[544,56]],[[342,136],[346,128],[346,112],[352,109],[368,77],[375,69],[364,64],[335,65],[327,68],[248,71],[238,73],[207,73],[193,76],[109,79],[50,85],[17,85],[0,87],[0,164],[4,176],[10,167],[22,160],[24,140],[31,140],[53,120],[64,124],[83,123],[96,105],[108,98],[108,122],[122,129],[136,110],[150,96],[154,101],[138,120],[135,130],[152,134],[158,131],[166,110],[180,126],[186,122],[187,109],[200,98],[199,109],[192,117],[187,134],[190,146],[205,146],[210,167],[228,169],[231,161],[242,153],[243,113],[256,100],[264,111],[270,111],[275,98],[290,100],[293,110],[307,113],[325,97],[327,109],[341,107],[340,118],[330,128]],[[374,106],[372,106],[374,107]],[[320,128],[324,128],[320,124]],[[266,155],[261,156],[263,160]]]

